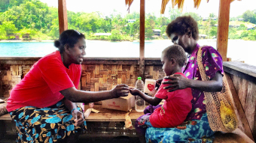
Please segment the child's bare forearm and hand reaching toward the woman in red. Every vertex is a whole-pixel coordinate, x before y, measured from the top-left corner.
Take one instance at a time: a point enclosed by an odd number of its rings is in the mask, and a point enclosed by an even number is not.
[[[160,98],[150,97],[146,94],[143,94],[142,91],[139,91],[136,88],[130,88],[130,93],[133,95],[139,95],[139,97],[142,97],[143,100],[145,100],[147,103],[150,103],[152,106],[157,106],[162,101]]]

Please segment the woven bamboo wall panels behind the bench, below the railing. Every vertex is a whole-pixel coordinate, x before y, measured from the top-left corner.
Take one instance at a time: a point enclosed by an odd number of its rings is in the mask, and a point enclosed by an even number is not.
[[[29,72],[39,58],[9,59],[0,61],[0,97],[9,97],[11,89]],[[152,65],[153,64],[153,65]],[[108,58],[84,59],[79,89],[83,91],[108,91],[112,85],[134,86],[139,76],[139,60]],[[143,79],[163,78],[159,59],[145,62]]]

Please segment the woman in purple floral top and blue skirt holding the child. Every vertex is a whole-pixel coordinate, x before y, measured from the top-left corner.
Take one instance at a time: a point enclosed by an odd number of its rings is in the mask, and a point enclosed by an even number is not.
[[[187,64],[183,67],[183,73],[188,79],[180,75],[172,75],[165,77],[171,80],[164,83],[172,84],[166,87],[170,92],[191,88],[192,110],[187,115],[186,121],[178,127],[165,129],[149,127],[146,131],[146,140],[151,142],[212,142],[214,132],[209,127],[203,91],[221,91],[224,74],[221,55],[212,46],[203,46],[203,66],[206,68],[206,76],[210,79],[204,82],[197,64],[197,52],[200,48],[197,43],[199,39],[197,22],[191,16],[179,16],[169,23],[166,34],[172,43],[182,46],[189,56]],[[157,82],[162,82],[162,79],[158,79]]]

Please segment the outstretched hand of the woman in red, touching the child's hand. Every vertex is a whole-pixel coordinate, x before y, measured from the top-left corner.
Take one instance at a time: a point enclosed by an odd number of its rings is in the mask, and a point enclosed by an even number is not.
[[[127,97],[129,94],[129,86],[124,84],[117,85],[111,90],[111,94],[114,96],[114,98]]]

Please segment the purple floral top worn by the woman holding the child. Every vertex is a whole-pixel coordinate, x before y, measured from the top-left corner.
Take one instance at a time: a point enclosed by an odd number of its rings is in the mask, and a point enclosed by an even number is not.
[[[200,45],[197,44],[197,47],[187,60],[187,65],[185,65],[183,68],[183,73],[188,79],[202,80],[197,64],[197,52],[199,48]],[[202,56],[203,67],[206,67],[206,76],[209,76],[209,79],[212,79],[217,72],[224,75],[222,58],[216,49],[214,49],[212,46],[203,46]],[[187,115],[186,121],[190,121],[192,119],[200,120],[203,114],[206,113],[206,102],[204,100],[205,96],[203,91],[199,91],[194,88],[191,89],[193,96],[193,100],[191,100],[192,110]]]

